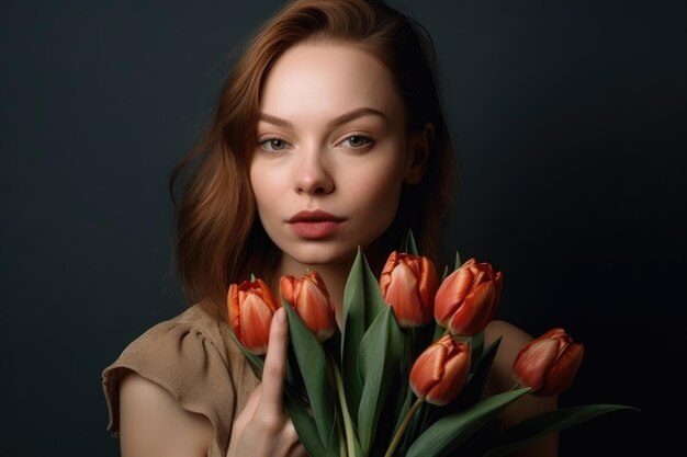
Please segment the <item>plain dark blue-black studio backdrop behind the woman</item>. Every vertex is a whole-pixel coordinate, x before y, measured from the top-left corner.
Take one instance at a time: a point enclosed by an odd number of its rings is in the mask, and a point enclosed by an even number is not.
[[[504,272],[498,317],[585,344],[562,404],[642,409],[563,432],[562,456],[661,455],[684,403],[685,3],[392,3],[441,64],[449,247]],[[280,4],[2,2],[0,454],[119,455],[101,370],[185,306],[169,171]]]

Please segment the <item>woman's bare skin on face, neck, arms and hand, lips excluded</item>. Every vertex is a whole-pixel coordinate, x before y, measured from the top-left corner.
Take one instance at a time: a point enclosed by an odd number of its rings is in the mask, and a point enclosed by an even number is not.
[[[365,71],[359,69],[364,68]],[[403,102],[388,71],[360,48],[319,41],[286,50],[270,70],[261,95],[250,175],[260,220],[282,251],[277,277],[322,275],[341,322],[344,286],[358,245],[371,245],[392,222],[405,184],[424,172],[431,126],[405,130]],[[289,224],[301,210],[338,217],[335,231],[303,237]],[[275,285],[273,285],[275,286]],[[277,287],[274,287],[277,289]],[[236,419],[227,456],[302,456],[282,390],[288,330],[284,312],[272,320],[262,385]],[[531,338],[507,322],[493,322],[485,341],[499,335],[488,392],[514,385],[510,367]],[[182,410],[162,388],[131,374],[120,395],[124,457],[205,456],[214,431],[207,419]],[[502,419],[506,427],[555,408],[555,399],[527,396]],[[555,457],[556,439],[521,456]]]

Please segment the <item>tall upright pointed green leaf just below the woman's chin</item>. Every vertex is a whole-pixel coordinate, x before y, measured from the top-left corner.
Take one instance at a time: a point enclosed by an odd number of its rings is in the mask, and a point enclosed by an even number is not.
[[[341,377],[351,416],[358,415],[362,380],[358,376],[358,353],[365,331],[383,309],[387,308],[378,279],[360,248],[344,290],[344,330],[341,334]]]

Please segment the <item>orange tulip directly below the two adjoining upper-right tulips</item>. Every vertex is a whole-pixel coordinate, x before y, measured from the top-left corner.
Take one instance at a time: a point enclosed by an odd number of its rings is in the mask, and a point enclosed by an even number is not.
[[[470,347],[444,335],[433,342],[415,361],[410,369],[410,387],[428,403],[448,404],[465,385],[470,372]]]

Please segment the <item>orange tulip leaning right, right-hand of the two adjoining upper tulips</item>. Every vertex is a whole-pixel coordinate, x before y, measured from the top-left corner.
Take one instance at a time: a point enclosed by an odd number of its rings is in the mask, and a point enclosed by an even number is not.
[[[503,284],[500,272],[470,259],[439,286],[435,319],[452,334],[473,336],[494,319]]]

